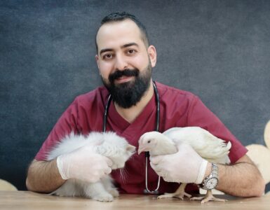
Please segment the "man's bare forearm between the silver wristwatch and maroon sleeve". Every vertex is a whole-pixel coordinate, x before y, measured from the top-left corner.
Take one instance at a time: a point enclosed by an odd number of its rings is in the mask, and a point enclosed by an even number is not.
[[[259,197],[264,193],[264,179],[248,156],[234,165],[219,165],[217,190],[238,197]]]

